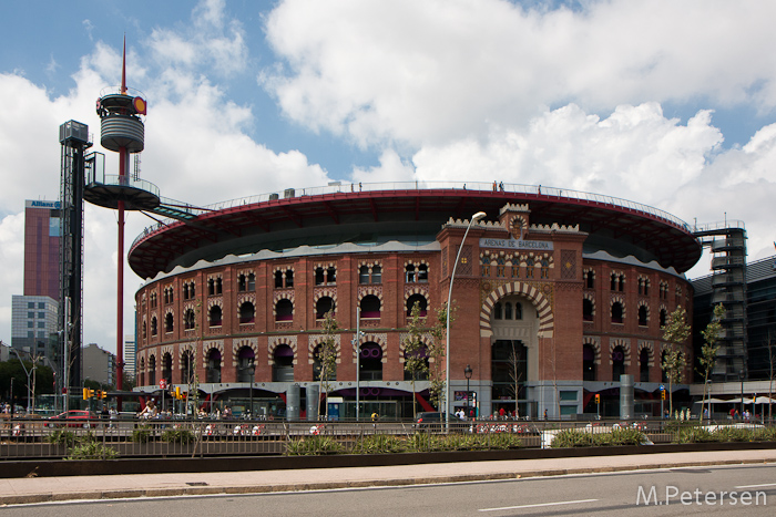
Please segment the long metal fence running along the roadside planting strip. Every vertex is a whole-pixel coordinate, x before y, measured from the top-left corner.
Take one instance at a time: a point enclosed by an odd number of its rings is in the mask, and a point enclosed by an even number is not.
[[[89,420],[12,418],[0,421],[0,461],[79,457],[204,457],[234,455],[368,453],[408,451],[550,447],[566,430],[590,434],[637,430],[644,443],[672,443],[687,431],[724,430],[728,440],[757,423],[697,421],[513,421],[482,420],[413,424],[412,422],[283,422],[248,420]],[[685,430],[685,431],[682,431]],[[700,430],[700,431],[698,431]],[[736,435],[736,433],[738,433]],[[440,441],[447,440],[447,443]],[[304,448],[307,447],[307,448]],[[326,447],[334,447],[327,449]],[[392,448],[391,448],[392,447]]]

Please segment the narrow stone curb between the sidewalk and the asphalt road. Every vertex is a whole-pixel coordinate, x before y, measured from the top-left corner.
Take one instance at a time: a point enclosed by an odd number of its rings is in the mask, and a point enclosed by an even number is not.
[[[116,489],[116,490],[85,490],[70,493],[49,493],[29,495],[0,496],[0,507],[10,505],[29,505],[41,503],[57,503],[65,500],[106,500],[106,499],[136,499],[141,497],[183,497],[183,496],[206,496],[218,494],[268,494],[279,492],[313,492],[331,490],[346,488],[372,488],[412,485],[433,485],[446,483],[473,483],[483,480],[507,480],[522,479],[531,477],[566,476],[573,474],[598,474],[615,472],[634,472],[666,468],[684,468],[718,465],[754,465],[767,464],[768,459],[723,459],[723,461],[697,461],[677,462],[671,464],[645,464],[645,465],[622,465],[613,467],[590,467],[590,468],[555,468],[548,471],[528,471],[520,473],[496,473],[496,474],[460,474],[442,475],[420,478],[395,478],[395,479],[363,479],[350,482],[319,482],[300,484],[279,485],[247,485],[247,486],[191,486],[170,488],[147,488],[147,489]]]

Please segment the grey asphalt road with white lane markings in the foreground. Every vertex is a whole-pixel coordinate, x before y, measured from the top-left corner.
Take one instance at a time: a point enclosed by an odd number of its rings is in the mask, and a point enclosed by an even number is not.
[[[95,477],[94,483],[100,483]],[[514,480],[13,506],[6,516],[539,516],[776,514],[776,465],[685,467]]]

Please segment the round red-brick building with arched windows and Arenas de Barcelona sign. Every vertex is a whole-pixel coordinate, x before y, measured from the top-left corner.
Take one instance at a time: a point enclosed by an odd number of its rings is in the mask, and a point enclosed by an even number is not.
[[[477,211],[487,216],[471,223]],[[197,214],[147,228],[130,250],[146,279],[137,389],[196,381],[201,401],[266,416],[316,411],[330,310],[330,414],[353,417],[357,387],[361,415],[411,417],[413,400],[433,411],[428,380],[412,390],[404,342],[418,302],[431,345],[461,245],[451,411],[469,401],[481,416],[594,414],[601,394],[602,413],[616,414],[626,374],[636,413],[658,414],[661,324],[678,306],[691,311],[683,273],[702,250],[670,214],[543,186],[330,185]]]

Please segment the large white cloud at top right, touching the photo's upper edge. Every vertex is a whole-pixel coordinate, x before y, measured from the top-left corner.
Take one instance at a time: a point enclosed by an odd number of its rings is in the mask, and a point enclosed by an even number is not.
[[[285,113],[361,145],[438,145],[544,106],[707,97],[776,106],[776,3],[586,2],[538,12],[503,0],[287,0],[263,71]]]

